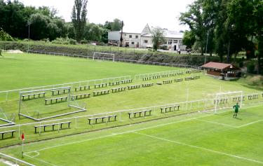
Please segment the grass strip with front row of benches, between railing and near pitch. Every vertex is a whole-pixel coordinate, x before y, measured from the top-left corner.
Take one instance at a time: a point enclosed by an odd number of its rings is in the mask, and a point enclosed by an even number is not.
[[[252,98],[252,96],[257,96]],[[12,139],[4,139],[0,141],[0,146],[8,146],[11,144],[18,144],[20,142],[20,135],[22,132],[25,133],[27,136],[27,141],[34,141],[36,139],[50,139],[54,137],[61,137],[63,135],[69,134],[77,134],[81,132],[87,132],[92,130],[100,130],[103,128],[108,127],[117,127],[121,125],[129,125],[133,123],[141,123],[148,120],[156,120],[159,118],[167,118],[170,116],[178,116],[184,113],[191,113],[196,111],[209,111],[215,109],[215,104],[217,104],[217,110],[220,109],[227,109],[231,108],[238,101],[236,97],[242,96],[229,96],[229,97],[222,97],[220,99],[224,99],[226,102],[217,102],[219,98],[210,98],[210,99],[200,99],[196,101],[188,101],[188,102],[177,102],[173,104],[163,104],[158,106],[148,106],[144,108],[138,109],[125,109],[121,111],[113,111],[107,113],[97,113],[93,115],[86,115],[86,116],[76,116],[71,118],[61,118],[56,120],[46,120],[40,121],[35,123],[27,123],[21,125],[12,125],[1,127],[0,132],[4,132],[7,130],[15,130],[15,137]],[[248,95],[243,95],[244,101],[242,102],[243,106],[248,106],[250,104],[259,105],[263,103],[263,93],[253,93]],[[228,99],[228,100],[227,100]],[[180,106],[179,110],[175,109],[175,106]],[[168,113],[161,113],[161,109],[167,108]],[[151,110],[151,116],[141,116],[140,118],[130,118],[128,116],[129,113],[134,112],[143,112],[146,110]],[[140,113],[141,114],[141,113]],[[138,115],[138,114],[137,114]],[[107,120],[109,116],[116,116],[115,120]],[[90,122],[88,118],[102,118],[104,117],[104,123],[96,123],[93,120]],[[98,120],[101,122],[101,119]],[[65,127],[65,129],[61,129],[60,127],[53,128],[53,132],[43,132],[43,125],[50,125],[50,124],[60,124],[63,122],[70,122],[71,127]],[[89,124],[90,123],[90,124]],[[42,127],[41,127],[42,126]],[[66,125],[65,125],[66,126]],[[51,130],[52,127],[46,127],[46,130]]]

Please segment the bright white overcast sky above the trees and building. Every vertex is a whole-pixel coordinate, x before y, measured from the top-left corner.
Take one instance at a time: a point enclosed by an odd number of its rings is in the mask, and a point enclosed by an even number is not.
[[[58,10],[67,22],[71,21],[74,0],[20,0],[25,6],[49,6]],[[188,29],[180,25],[180,13],[194,0],[88,0],[88,21],[104,24],[115,18],[123,20],[125,32],[142,32],[146,24],[177,31]]]

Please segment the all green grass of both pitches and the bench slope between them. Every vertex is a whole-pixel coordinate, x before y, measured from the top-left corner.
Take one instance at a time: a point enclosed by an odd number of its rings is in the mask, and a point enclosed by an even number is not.
[[[175,67],[7,53],[4,53],[4,58],[0,58],[0,66],[0,90],[118,76],[131,76],[134,79],[136,74],[180,70]],[[201,76],[201,78],[167,85],[156,84],[187,76]],[[18,92],[9,94],[8,100],[6,100],[6,94],[2,93],[0,94],[0,118],[4,117],[4,113],[8,118],[15,117],[16,125],[1,127],[0,132],[6,130],[16,130],[16,132],[15,137],[10,138],[7,135],[5,139],[0,140],[0,147],[20,144],[20,134],[25,132],[26,142],[50,139],[26,144],[26,156],[23,160],[36,165],[263,165],[262,155],[260,155],[263,146],[260,141],[263,107],[257,106],[262,105],[263,88],[248,85],[243,78],[236,81],[220,81],[203,73],[184,74],[150,81],[137,80],[133,83],[107,88],[91,87],[90,90],[80,92],[73,90],[72,95],[93,94],[97,90],[111,90],[111,88],[142,85],[142,83],[154,83],[154,86],[118,93],[110,92],[109,95],[97,97],[91,95],[90,98],[71,102],[77,106],[86,106],[88,111],[39,123],[34,123],[34,120],[28,118],[18,118]],[[215,92],[240,90],[243,91],[243,95],[258,93],[259,98],[251,101],[245,99],[243,102],[245,107],[241,109],[238,118],[232,118],[229,109],[219,111],[218,114],[197,112],[213,109],[213,100],[210,103],[181,104],[179,111],[160,113],[159,105],[186,100],[212,99]],[[65,95],[55,97],[62,96]],[[46,98],[51,97],[53,96],[47,91]],[[46,106],[44,104],[46,98],[22,101],[22,113],[45,118],[72,111],[72,108],[67,106],[67,102]],[[232,103],[233,101],[219,107],[231,106]],[[113,113],[108,112],[143,107],[149,109],[151,106],[156,106],[151,116],[128,118],[129,111],[121,111],[117,113],[116,121],[88,125],[87,118],[94,115],[111,115]],[[182,115],[190,112],[195,113]],[[76,116],[81,117],[76,118]],[[67,119],[58,120],[59,118]],[[55,127],[55,131],[50,131],[48,128],[47,132],[34,133],[35,125],[68,120],[72,121],[69,129],[58,130]],[[34,124],[25,125],[25,123]],[[4,122],[0,121],[0,125],[2,124]],[[100,131],[90,132],[93,130]],[[88,133],[79,134],[83,132]],[[75,135],[67,136],[69,134]],[[62,138],[54,139],[56,137]],[[15,158],[21,157],[20,146],[2,148],[0,151]]]

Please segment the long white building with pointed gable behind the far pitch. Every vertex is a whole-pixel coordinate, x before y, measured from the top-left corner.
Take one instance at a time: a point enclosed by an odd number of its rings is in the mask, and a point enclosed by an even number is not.
[[[141,33],[130,33],[123,32],[123,43],[122,46],[131,47],[131,48],[152,48],[153,43],[152,39],[152,30],[154,27],[149,27],[147,24]],[[163,29],[163,35],[165,36],[165,42],[163,45],[166,45],[170,50],[185,50],[185,46],[182,45],[182,33],[169,31],[168,29]],[[109,32],[108,34],[109,42],[118,43],[120,45],[121,32]]]

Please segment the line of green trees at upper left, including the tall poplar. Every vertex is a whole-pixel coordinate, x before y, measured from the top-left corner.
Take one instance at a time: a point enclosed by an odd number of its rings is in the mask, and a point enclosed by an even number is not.
[[[79,43],[98,41],[107,43],[109,31],[121,30],[121,20],[95,24],[87,21],[87,0],[75,0],[72,22],[58,17],[55,8],[25,6],[18,0],[0,0],[0,30],[14,39],[48,40],[57,38],[75,39]],[[29,33],[30,31],[30,33]],[[28,36],[30,34],[30,36]]]

